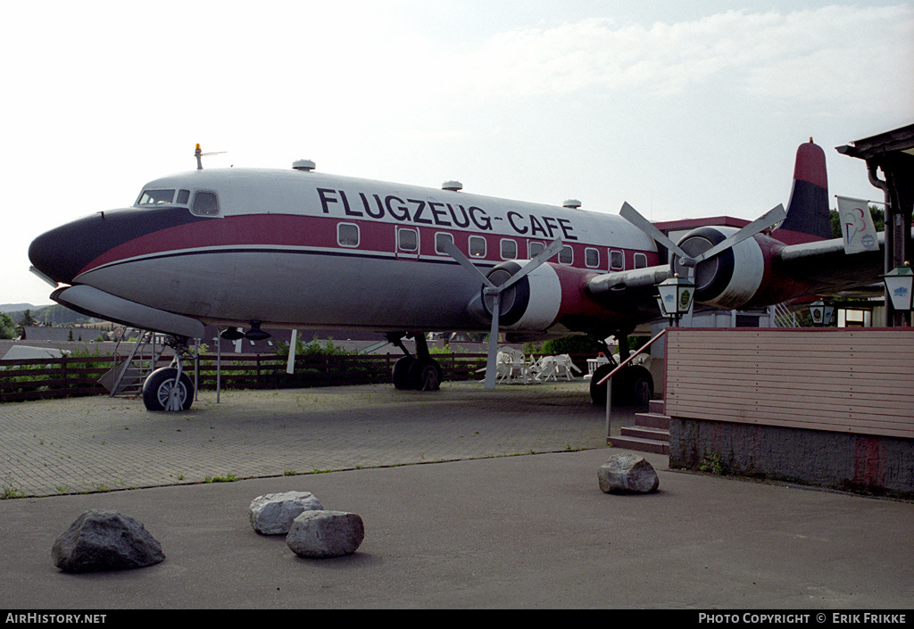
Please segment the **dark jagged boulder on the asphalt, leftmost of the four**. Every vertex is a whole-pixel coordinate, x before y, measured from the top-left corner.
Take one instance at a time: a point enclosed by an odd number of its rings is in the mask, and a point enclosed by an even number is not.
[[[127,570],[165,560],[160,544],[133,517],[90,509],[51,548],[54,565],[65,572]]]

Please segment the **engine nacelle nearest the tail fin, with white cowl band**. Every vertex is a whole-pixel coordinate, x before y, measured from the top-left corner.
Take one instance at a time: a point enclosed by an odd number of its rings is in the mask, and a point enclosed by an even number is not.
[[[699,255],[735,233],[727,227],[693,229],[677,243],[689,255]],[[778,304],[802,294],[805,285],[778,273],[772,261],[784,246],[764,234],[743,240],[713,258],[702,261],[695,270],[695,301],[717,308],[739,309]],[[673,256],[673,271],[687,277],[688,269]]]

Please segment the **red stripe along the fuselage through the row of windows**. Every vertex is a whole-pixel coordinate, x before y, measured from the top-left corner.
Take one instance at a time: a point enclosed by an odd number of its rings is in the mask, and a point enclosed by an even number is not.
[[[343,247],[338,243],[337,226],[341,223],[358,226],[359,244],[357,247]],[[471,236],[483,237],[486,241],[486,255],[484,258],[473,257],[473,260],[493,263],[503,261],[500,257],[502,240],[514,240],[516,242],[516,257],[519,259],[532,257],[529,256],[528,251],[530,242],[546,242],[540,239],[510,237],[496,233],[428,228],[373,220],[345,220],[290,214],[247,214],[208,219],[150,232],[105,251],[81,269],[80,274],[90,272],[101,266],[128,261],[133,258],[180,254],[202,248],[315,248],[334,250],[350,255],[358,255],[359,253],[393,255],[397,251],[396,243],[399,229],[414,229],[418,232],[419,254],[421,256],[441,258],[448,261],[451,260],[450,256],[442,255],[435,251],[435,234],[437,233],[451,234],[457,248],[464,253],[469,251],[468,243]],[[654,266],[658,263],[655,251],[626,250],[618,245],[611,246],[608,243],[568,242],[567,244],[574,253],[574,259],[570,266],[593,273],[607,272],[609,265],[608,249],[622,250],[624,252],[626,269],[634,268],[635,253],[644,253],[647,256],[648,266]],[[584,256],[587,248],[595,248],[600,251],[599,268],[584,269]],[[400,253],[405,252],[400,251]],[[415,255],[415,252],[413,254]]]

